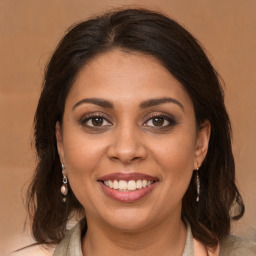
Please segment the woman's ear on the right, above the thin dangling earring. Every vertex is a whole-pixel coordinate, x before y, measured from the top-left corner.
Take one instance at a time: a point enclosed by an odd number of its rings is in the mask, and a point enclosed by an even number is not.
[[[194,170],[199,168],[204,161],[208,151],[208,145],[211,135],[211,124],[208,120],[200,124],[196,139],[196,150],[194,159]]]

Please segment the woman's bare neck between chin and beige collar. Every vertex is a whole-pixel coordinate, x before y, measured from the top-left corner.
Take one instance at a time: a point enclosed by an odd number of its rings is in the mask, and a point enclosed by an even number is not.
[[[136,231],[123,231],[88,221],[82,250],[86,256],[181,256],[185,241],[186,227],[180,218]]]

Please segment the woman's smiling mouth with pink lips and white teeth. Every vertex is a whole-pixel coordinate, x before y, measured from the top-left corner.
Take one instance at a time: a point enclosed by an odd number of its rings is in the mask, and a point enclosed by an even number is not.
[[[133,202],[149,194],[159,179],[141,173],[112,173],[98,181],[107,196],[117,201]]]

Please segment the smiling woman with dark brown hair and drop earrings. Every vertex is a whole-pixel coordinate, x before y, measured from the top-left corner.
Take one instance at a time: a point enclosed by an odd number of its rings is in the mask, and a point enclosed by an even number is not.
[[[54,52],[35,115],[33,235],[54,255],[256,255],[218,74],[175,21],[110,12]],[[69,232],[68,220],[81,221]]]

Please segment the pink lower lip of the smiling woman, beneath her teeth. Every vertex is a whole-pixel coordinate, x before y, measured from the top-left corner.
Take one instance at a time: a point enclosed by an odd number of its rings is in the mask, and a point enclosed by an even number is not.
[[[141,188],[141,189],[138,189],[138,190],[121,192],[119,190],[107,187],[106,185],[104,185],[104,183],[100,182],[103,191],[109,197],[111,197],[111,198],[113,198],[117,201],[127,202],[127,203],[140,200],[143,197],[145,197],[146,195],[148,195],[152,191],[152,189],[155,187],[156,183],[157,182],[154,182],[150,186],[145,187],[145,188]]]

